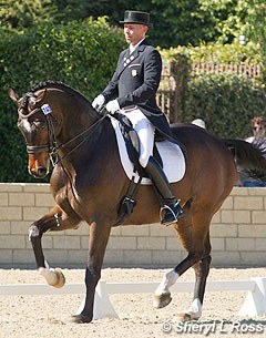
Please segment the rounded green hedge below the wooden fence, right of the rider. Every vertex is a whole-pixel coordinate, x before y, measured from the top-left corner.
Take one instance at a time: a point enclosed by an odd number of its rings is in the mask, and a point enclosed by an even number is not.
[[[252,135],[254,116],[266,116],[263,84],[243,75],[204,74],[188,82],[180,121],[203,119],[219,136],[244,139]]]

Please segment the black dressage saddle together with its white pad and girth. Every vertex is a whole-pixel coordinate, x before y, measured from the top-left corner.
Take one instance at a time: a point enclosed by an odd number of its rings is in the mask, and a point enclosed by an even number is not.
[[[115,131],[122,166],[131,181],[119,208],[117,224],[121,224],[133,212],[140,185],[152,184],[152,182],[139,163],[140,142],[131,121],[119,112],[112,114],[110,120]],[[170,182],[182,180],[185,174],[185,157],[178,145],[162,137],[158,139],[155,134],[153,156],[163,167]]]

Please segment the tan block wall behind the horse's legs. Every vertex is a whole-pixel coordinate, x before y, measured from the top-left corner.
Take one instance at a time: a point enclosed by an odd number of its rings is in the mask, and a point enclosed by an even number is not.
[[[48,184],[0,184],[0,262],[35,266],[28,228],[54,205]],[[266,256],[266,188],[235,187],[211,226],[212,265],[264,266]],[[84,266],[88,225],[76,231],[48,233],[43,247],[48,260]],[[158,224],[112,229],[105,266],[173,266],[186,255],[172,227]]]

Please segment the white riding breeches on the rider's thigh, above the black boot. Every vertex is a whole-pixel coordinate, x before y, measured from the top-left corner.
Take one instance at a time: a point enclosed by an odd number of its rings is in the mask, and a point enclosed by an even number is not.
[[[150,156],[153,155],[155,127],[140,109],[121,110],[122,114],[132,122],[140,139],[140,164],[146,167]]]

